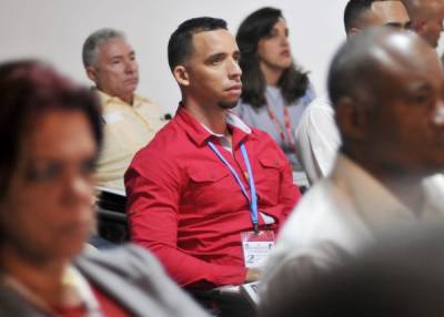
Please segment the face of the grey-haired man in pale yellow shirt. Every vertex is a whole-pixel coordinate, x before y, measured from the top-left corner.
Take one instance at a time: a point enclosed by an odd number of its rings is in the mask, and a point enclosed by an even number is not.
[[[134,50],[123,38],[100,44],[95,64],[87,68],[87,72],[99,90],[124,101],[132,100],[139,83]]]

